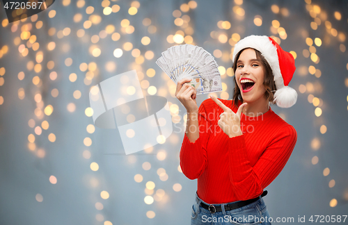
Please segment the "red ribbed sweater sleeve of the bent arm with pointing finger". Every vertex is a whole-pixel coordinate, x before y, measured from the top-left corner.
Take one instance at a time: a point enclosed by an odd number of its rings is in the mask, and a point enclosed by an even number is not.
[[[246,155],[244,135],[228,139],[230,181],[237,198],[247,200],[262,194],[283,170],[296,144],[297,133],[289,124],[280,128],[253,167]]]

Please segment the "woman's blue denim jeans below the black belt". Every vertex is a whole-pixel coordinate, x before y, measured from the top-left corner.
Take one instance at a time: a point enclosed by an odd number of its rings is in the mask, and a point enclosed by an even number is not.
[[[196,198],[198,202],[195,201],[192,206],[191,225],[271,224],[266,204],[261,197],[246,206],[228,211],[224,208],[228,203],[212,204],[213,206],[221,206],[222,211],[216,213],[210,213],[209,210],[200,206],[200,202],[206,202],[198,197],[197,192]],[[209,205],[208,203],[206,204]]]

